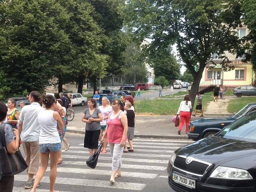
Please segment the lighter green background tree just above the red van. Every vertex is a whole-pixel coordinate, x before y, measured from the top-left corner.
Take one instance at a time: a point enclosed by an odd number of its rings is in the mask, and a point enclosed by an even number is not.
[[[136,82],[146,82],[148,71],[144,62],[139,58],[141,49],[134,43],[130,43],[124,52],[125,66],[123,74],[126,84],[134,84]]]

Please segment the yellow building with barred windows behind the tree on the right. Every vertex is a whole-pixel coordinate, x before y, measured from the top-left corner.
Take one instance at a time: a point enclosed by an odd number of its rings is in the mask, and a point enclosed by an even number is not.
[[[239,38],[248,34],[248,29],[246,27],[237,28],[236,30]],[[220,65],[222,59],[219,59],[220,56],[221,55],[217,55],[216,53],[212,54],[212,61],[216,66],[213,65],[212,62],[208,62],[202,74],[199,87],[202,88],[216,85],[238,87],[241,85],[254,84],[255,74],[252,65],[250,62],[242,62],[244,55],[238,56],[226,53],[226,56],[231,61],[229,65],[234,67],[231,71],[224,71],[222,69]]]

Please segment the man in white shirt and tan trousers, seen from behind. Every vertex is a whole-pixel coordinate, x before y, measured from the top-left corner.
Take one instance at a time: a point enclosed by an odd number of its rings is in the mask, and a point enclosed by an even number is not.
[[[24,106],[20,113],[18,130],[25,152],[25,160],[28,165],[28,180],[25,189],[31,189],[33,187],[33,177],[39,168],[40,125],[38,122],[38,112],[44,110],[39,104],[40,97],[41,94],[38,91],[32,91],[29,94],[30,105]]]

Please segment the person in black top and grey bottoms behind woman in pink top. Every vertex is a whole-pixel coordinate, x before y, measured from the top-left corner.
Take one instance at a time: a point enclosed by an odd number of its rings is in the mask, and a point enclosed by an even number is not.
[[[125,147],[124,147],[124,153],[133,152],[133,142],[132,140],[134,139],[134,127],[135,127],[135,113],[133,110],[131,110],[132,104],[130,102],[126,102],[124,109],[126,112],[127,116],[127,122],[128,122],[128,131],[127,131],[127,139],[128,142],[125,142]],[[130,149],[128,150],[128,143],[130,145]]]

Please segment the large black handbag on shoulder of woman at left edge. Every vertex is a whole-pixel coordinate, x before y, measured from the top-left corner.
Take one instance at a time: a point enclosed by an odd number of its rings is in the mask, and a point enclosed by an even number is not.
[[[0,137],[2,140],[2,147],[0,147],[0,175],[11,176],[26,170],[28,165],[19,149],[14,154],[8,153],[4,135],[5,126],[5,123],[0,124]]]

